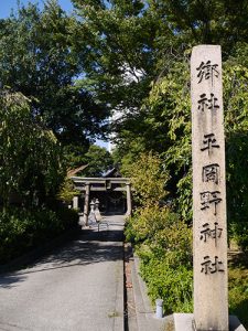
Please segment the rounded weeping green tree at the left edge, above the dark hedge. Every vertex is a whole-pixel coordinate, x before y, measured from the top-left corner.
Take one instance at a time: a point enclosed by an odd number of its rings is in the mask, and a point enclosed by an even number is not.
[[[13,194],[26,206],[55,197],[65,171],[62,149],[41,118],[33,118],[23,95],[0,98],[0,196],[7,206]]]

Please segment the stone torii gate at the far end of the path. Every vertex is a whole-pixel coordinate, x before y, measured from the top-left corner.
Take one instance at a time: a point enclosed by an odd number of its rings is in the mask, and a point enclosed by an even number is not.
[[[122,191],[127,192],[127,212],[131,215],[131,184],[128,178],[84,178],[71,177],[75,189],[85,192],[84,223],[88,224],[89,193],[94,191]]]

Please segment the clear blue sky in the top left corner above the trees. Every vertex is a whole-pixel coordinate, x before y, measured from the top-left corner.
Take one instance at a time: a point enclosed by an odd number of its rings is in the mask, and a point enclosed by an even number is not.
[[[20,2],[23,4],[28,4],[28,2],[39,3],[39,4],[41,4],[41,8],[42,8],[44,0],[21,0]],[[1,0],[0,19],[8,18],[11,13],[11,9],[18,8],[17,3],[18,3],[18,0]],[[69,0],[58,0],[58,3],[65,11],[72,12],[73,6]]]

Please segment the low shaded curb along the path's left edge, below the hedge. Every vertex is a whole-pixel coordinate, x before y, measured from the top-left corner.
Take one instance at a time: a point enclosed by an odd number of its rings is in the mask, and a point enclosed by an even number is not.
[[[12,259],[10,263],[0,266],[0,274],[14,271],[20,268],[24,268],[25,266],[34,263],[37,258],[48,254],[52,249],[60,247],[66,242],[76,237],[79,233],[79,228],[69,229],[68,232],[51,239],[37,248],[33,248],[31,252],[21,255]]]

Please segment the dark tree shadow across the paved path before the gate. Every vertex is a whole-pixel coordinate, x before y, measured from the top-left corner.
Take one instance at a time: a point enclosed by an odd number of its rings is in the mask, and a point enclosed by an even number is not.
[[[118,222],[109,225],[115,229],[84,229],[75,241],[53,249],[25,269],[0,275],[0,288],[10,289],[17,286],[14,284],[24,281],[30,274],[122,259],[122,226]]]

